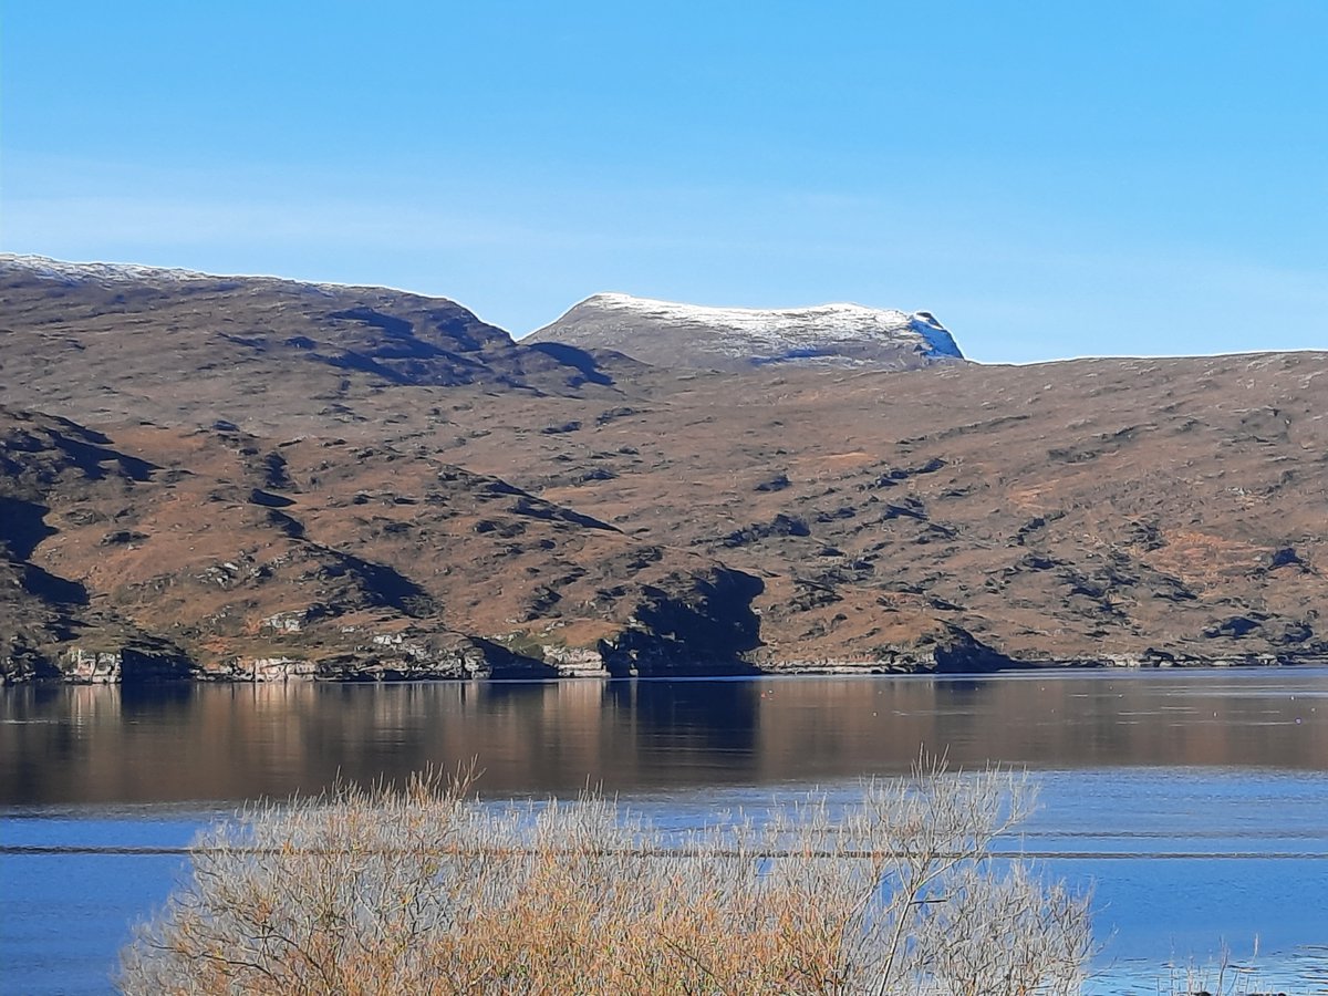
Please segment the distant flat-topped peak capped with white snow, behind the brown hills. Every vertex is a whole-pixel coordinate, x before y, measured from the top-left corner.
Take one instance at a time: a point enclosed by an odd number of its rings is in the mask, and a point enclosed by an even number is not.
[[[623,293],[596,293],[523,343],[612,349],[671,368],[741,371],[764,364],[914,369],[963,355],[920,311],[822,304],[761,311],[704,308]]]

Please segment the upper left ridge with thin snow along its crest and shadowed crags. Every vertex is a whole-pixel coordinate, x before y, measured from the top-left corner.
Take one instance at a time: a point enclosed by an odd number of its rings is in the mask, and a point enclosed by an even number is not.
[[[239,422],[259,413],[230,396],[238,381],[262,388],[278,417],[335,417],[341,396],[369,385],[560,393],[611,381],[580,351],[519,345],[454,301],[381,287],[0,255],[0,401],[40,397],[93,418],[162,397],[177,414]]]

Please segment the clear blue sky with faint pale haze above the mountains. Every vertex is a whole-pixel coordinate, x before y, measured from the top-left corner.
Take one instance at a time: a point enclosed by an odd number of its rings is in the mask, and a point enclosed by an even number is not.
[[[1328,348],[1328,1],[40,3],[0,248],[930,309],[979,360]]]

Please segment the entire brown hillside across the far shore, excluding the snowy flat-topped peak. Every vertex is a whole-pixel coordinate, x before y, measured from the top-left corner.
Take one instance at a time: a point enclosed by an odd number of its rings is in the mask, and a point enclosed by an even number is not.
[[[661,367],[401,291],[8,258],[0,676],[1323,663],[1324,384],[1323,352]]]

